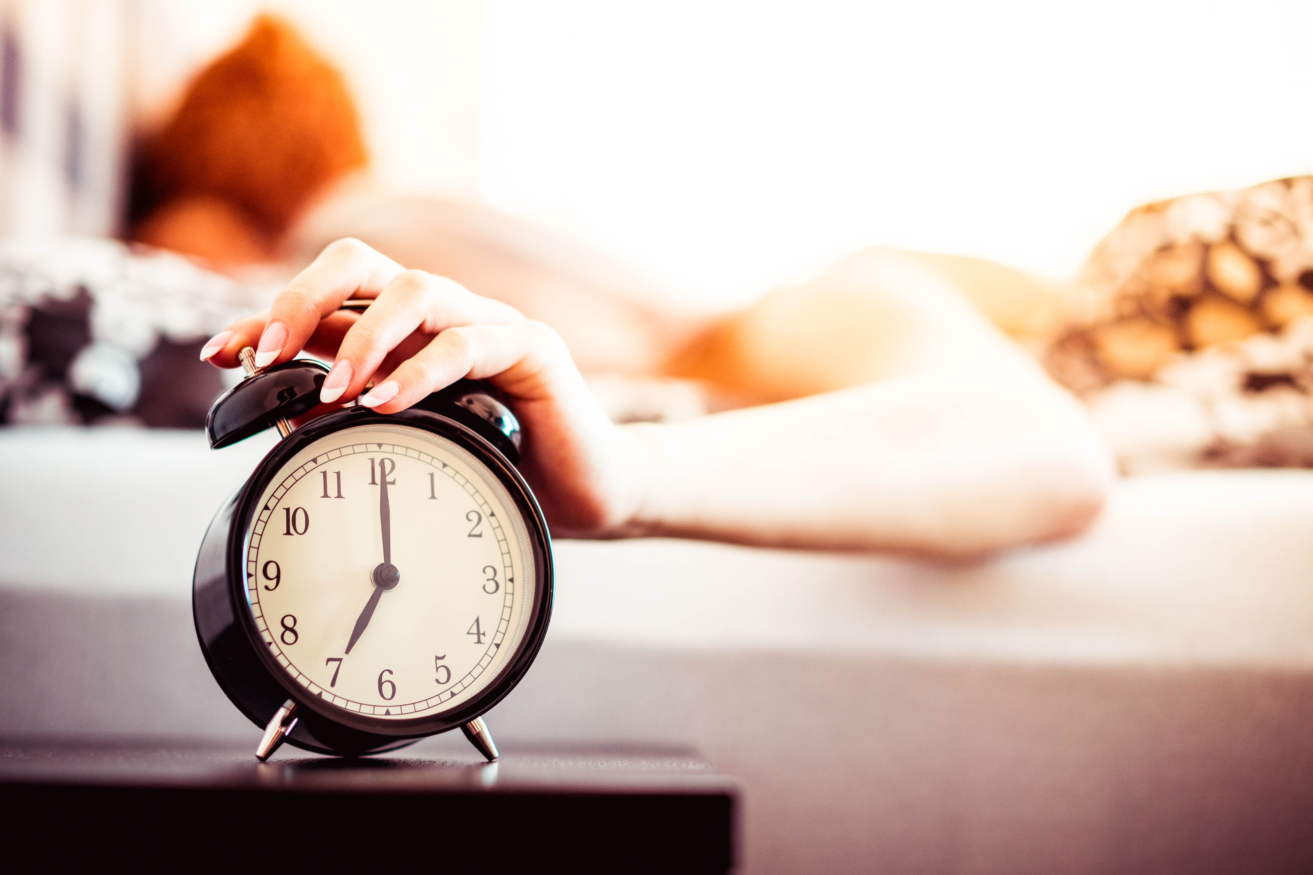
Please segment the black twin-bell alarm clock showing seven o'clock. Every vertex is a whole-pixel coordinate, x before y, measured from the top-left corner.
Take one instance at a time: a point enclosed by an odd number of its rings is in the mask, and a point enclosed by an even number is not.
[[[242,361],[210,446],[270,426],[282,441],[210,523],[193,613],[214,678],[265,728],[256,756],[379,753],[460,727],[495,760],[482,715],[529,669],[553,597],[513,413],[458,380],[399,413],[293,429],[328,369]]]

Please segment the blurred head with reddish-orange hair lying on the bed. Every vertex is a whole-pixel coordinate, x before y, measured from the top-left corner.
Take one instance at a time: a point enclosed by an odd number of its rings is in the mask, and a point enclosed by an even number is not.
[[[318,192],[365,163],[341,75],[290,25],[260,16],[142,150],[133,236],[248,261],[268,253]]]

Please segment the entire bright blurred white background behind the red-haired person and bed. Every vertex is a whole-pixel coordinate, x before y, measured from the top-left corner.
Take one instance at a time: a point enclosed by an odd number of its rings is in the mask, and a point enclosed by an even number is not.
[[[1313,171],[1313,5],[1285,0],[0,0],[0,231],[112,230],[116,143],[260,9],[341,67],[385,185],[714,306],[869,244],[1064,277],[1137,203]]]

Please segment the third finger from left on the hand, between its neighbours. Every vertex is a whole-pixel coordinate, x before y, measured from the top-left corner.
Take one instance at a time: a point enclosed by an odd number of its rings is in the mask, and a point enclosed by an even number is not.
[[[419,352],[402,349],[412,335],[427,338],[460,325],[523,321],[524,315],[515,307],[475,295],[444,277],[406,270],[387,283],[347,332],[332,371],[324,379],[324,396],[337,400],[358,395],[390,354],[395,362],[398,353],[408,357]]]

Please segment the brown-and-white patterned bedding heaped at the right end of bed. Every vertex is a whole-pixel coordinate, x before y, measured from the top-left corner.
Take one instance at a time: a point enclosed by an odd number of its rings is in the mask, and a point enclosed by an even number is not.
[[[1132,210],[1045,363],[1124,471],[1313,467],[1313,177]]]

